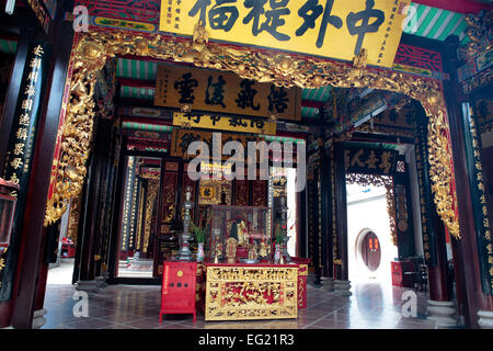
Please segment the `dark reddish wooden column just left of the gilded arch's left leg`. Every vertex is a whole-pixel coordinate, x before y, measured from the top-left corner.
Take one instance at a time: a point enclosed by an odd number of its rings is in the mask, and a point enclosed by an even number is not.
[[[38,137],[34,148],[33,168],[24,214],[23,254],[18,284],[19,293],[14,304],[12,325],[15,328],[31,328],[35,308],[36,292],[45,279],[41,273],[41,256],[44,252],[44,219],[48,188],[51,177],[58,121],[64,98],[65,80],[70,60],[73,39],[71,23],[62,22],[56,31],[55,49],[50,61],[50,82],[46,89],[42,118],[37,128]],[[41,288],[41,291],[44,291]]]

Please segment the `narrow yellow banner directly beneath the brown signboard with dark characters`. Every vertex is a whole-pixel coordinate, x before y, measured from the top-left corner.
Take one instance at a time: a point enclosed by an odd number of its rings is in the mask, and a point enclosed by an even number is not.
[[[173,125],[215,131],[230,131],[240,133],[276,134],[276,124],[262,120],[244,117],[225,117],[217,115],[186,115],[182,112],[173,114]]]

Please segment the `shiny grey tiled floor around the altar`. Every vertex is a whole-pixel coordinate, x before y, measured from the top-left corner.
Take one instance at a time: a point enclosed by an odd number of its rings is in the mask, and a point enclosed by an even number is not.
[[[403,290],[390,284],[354,284],[351,297],[308,286],[308,308],[298,319],[204,321],[203,315],[164,315],[159,322],[160,286],[110,285],[89,299],[89,317],[74,317],[73,285],[48,285],[44,329],[435,329],[426,320],[426,296],[419,294],[417,317],[401,315]]]

